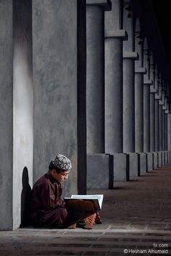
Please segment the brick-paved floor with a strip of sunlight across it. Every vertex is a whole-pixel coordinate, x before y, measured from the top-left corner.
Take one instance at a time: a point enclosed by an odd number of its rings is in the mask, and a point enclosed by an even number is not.
[[[1,231],[0,255],[171,255],[171,165],[92,193],[104,194],[103,224]]]

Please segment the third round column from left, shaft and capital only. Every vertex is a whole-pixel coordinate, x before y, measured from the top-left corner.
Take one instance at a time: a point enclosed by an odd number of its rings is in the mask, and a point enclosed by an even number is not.
[[[135,152],[135,52],[123,54],[123,152]]]

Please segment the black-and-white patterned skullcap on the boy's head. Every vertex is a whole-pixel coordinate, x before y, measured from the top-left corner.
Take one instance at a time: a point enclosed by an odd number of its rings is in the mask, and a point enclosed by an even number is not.
[[[57,170],[65,171],[72,168],[70,159],[65,157],[63,154],[57,154],[57,157],[54,157],[51,162]]]

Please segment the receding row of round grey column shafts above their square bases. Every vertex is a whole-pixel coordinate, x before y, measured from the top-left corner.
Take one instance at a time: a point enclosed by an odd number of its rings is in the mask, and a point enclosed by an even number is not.
[[[143,50],[144,63],[140,54],[141,59],[135,61],[138,58],[137,52],[123,52],[122,41],[126,37],[125,30],[120,30],[119,27],[112,29],[109,20],[111,15],[107,13],[104,35],[105,11],[107,11],[107,2],[104,1],[99,5],[87,1],[88,153],[166,150],[165,139],[162,136],[164,112],[162,105],[157,106],[159,101],[155,100],[155,92],[150,91],[151,83],[155,83],[155,75],[150,67],[149,56],[146,55],[149,51],[147,44],[145,42]],[[125,46],[125,49],[127,48],[129,50],[129,46]],[[136,65],[136,62],[141,62],[141,65]],[[152,62],[151,65],[154,63]],[[158,123],[163,124],[163,127],[159,128],[159,135]],[[159,149],[155,148],[155,144],[158,144],[157,138],[162,144]]]

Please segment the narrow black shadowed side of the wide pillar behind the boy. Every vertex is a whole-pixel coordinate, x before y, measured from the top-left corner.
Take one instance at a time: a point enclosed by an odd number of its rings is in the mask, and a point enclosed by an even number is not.
[[[87,189],[86,0],[78,1],[78,194]]]

